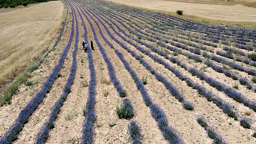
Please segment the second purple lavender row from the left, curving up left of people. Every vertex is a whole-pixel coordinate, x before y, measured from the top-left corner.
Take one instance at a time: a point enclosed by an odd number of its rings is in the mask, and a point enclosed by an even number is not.
[[[72,13],[72,17],[76,18],[76,38],[75,38],[75,44],[74,44],[74,51],[72,53],[73,61],[72,61],[71,69],[69,72],[69,76],[67,78],[67,82],[65,83],[65,85],[63,87],[60,98],[51,107],[51,111],[47,116],[48,117],[47,120],[43,123],[43,126],[41,127],[40,131],[38,132],[37,136],[35,137],[34,144],[44,144],[46,142],[50,130],[54,127],[54,122],[57,117],[57,114],[60,112],[60,108],[63,105],[63,103],[65,102],[65,100],[67,99],[68,93],[71,90],[71,85],[73,84],[74,77],[76,74],[76,69],[77,69],[76,54],[77,54],[77,50],[78,50],[79,29],[78,29],[77,16],[76,16],[75,10],[72,6],[71,6],[71,13]]]

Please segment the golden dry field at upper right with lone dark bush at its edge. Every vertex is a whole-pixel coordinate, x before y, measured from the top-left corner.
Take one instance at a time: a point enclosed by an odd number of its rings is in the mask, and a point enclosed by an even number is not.
[[[110,1],[110,0],[108,0]],[[243,7],[239,5],[216,5],[216,4],[198,4],[188,3],[187,0],[177,2],[175,0],[111,0],[114,3],[132,6],[175,15],[176,10],[183,10],[182,18],[194,19],[200,22],[214,22],[227,24],[243,24],[256,25],[256,9]],[[199,1],[199,0],[197,0]],[[221,2],[220,2],[221,3]],[[252,2],[256,3],[256,2]]]

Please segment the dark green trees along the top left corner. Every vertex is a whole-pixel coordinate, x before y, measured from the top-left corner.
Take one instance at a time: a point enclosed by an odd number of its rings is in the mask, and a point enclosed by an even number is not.
[[[27,6],[28,4],[37,4],[53,0],[0,0],[0,8],[15,8],[18,5]]]

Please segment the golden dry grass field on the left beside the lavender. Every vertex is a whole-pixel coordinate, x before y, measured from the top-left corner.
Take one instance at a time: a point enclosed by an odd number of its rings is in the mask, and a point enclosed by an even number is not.
[[[38,58],[61,29],[64,5],[51,1],[0,14],[0,83]]]

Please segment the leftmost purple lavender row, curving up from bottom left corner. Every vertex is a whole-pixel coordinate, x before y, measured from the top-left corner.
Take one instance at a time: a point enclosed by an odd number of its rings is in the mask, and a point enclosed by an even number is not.
[[[72,43],[73,36],[74,36],[74,17],[72,18],[71,35],[69,37],[68,44],[65,47],[63,53],[61,54],[58,64],[54,67],[54,69],[52,70],[52,73],[49,75],[46,82],[44,82],[42,88],[38,91],[35,97],[25,106],[24,109],[21,110],[14,124],[10,126],[7,132],[5,132],[5,134],[1,137],[0,139],[1,144],[10,144],[12,141],[17,139],[18,134],[22,130],[22,127],[25,125],[25,123],[29,120],[30,115],[32,115],[35,109],[37,109],[38,105],[43,101],[46,93],[50,91],[50,88],[52,87],[52,84],[55,82],[57,78],[57,74],[59,73],[64,63],[65,57],[67,56],[67,53]]]

